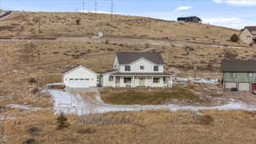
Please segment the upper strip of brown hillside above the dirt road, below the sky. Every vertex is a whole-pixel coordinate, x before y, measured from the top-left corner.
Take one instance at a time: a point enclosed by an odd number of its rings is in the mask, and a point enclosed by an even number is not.
[[[79,21],[77,21],[79,20]],[[93,13],[15,12],[0,22],[1,36],[91,36],[99,31],[108,36],[168,37],[226,41],[234,29],[145,17]]]

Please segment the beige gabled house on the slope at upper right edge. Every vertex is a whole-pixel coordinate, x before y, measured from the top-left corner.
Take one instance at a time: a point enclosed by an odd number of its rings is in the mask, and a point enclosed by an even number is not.
[[[256,43],[256,26],[246,26],[241,32],[240,41],[247,44]]]

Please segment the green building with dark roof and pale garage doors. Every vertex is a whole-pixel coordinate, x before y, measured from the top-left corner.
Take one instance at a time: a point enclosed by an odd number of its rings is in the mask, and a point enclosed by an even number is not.
[[[256,89],[256,60],[223,60],[222,72],[224,89]]]

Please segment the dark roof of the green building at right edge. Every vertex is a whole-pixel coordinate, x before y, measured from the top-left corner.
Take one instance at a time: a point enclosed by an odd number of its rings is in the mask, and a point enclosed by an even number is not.
[[[223,60],[222,72],[256,72],[256,60]]]

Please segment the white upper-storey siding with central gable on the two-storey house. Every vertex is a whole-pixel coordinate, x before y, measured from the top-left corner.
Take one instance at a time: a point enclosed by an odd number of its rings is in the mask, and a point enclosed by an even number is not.
[[[120,65],[119,72],[126,72],[125,66],[131,66],[131,72],[154,72],[154,66],[159,66],[158,72],[164,72],[163,65],[155,65],[154,63],[145,59],[139,59],[130,65]],[[140,66],[144,66],[144,70],[141,70]]]

